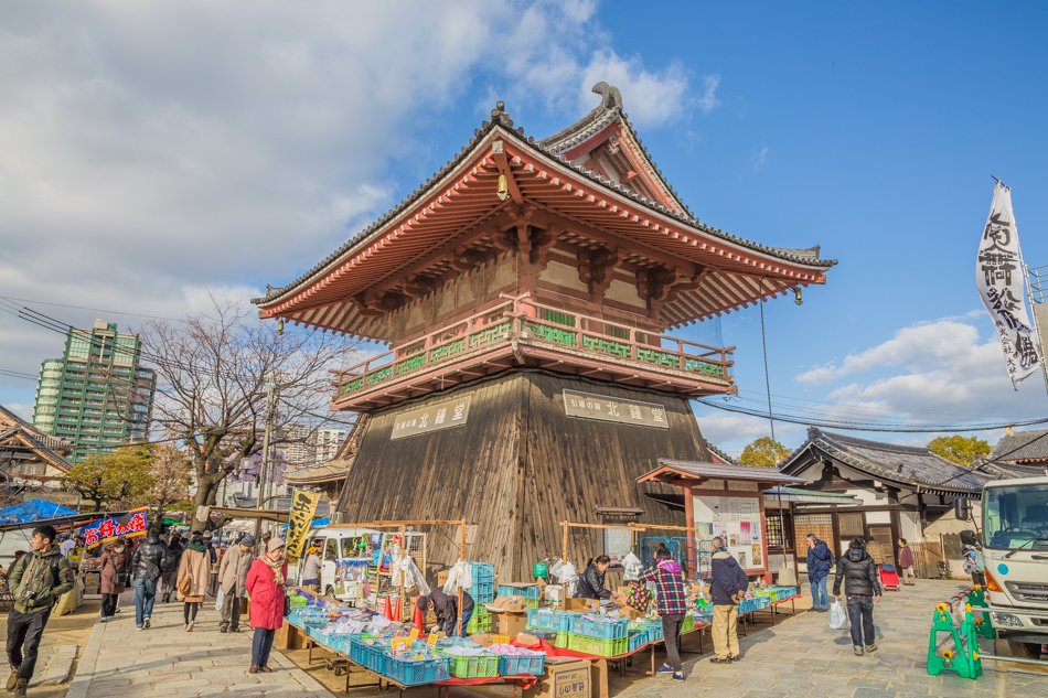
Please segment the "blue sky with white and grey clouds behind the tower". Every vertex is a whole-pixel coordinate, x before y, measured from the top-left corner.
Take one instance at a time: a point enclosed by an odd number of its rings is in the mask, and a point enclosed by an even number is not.
[[[767,307],[777,410],[1048,417],[1037,377],[1012,390],[973,283],[991,174],[1013,187],[1027,264],[1048,265],[1042,3],[307,6],[6,12],[0,296],[163,316],[246,299],[413,191],[495,99],[545,136],[607,79],[699,218],[840,260],[802,307]],[[0,368],[35,374],[61,352],[4,318]],[[720,330],[739,347],[738,404],[758,406],[757,310]],[[0,375],[0,402],[32,399]],[[767,432],[697,412],[730,452]],[[777,436],[793,447],[803,427]]]

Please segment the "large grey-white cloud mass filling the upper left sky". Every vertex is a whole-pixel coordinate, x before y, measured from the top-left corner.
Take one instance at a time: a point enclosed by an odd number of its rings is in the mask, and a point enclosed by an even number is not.
[[[429,121],[471,89],[574,118],[606,79],[643,125],[689,99],[681,66],[616,53],[595,0],[60,7],[15,3],[0,23],[3,296],[162,316],[243,302],[425,179],[420,161],[450,154]],[[61,352],[6,316],[0,368]],[[24,383],[0,377],[0,400]]]

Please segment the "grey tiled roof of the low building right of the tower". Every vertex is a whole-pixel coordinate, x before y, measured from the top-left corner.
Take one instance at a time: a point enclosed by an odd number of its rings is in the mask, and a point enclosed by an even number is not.
[[[974,493],[994,476],[980,466],[965,468],[924,447],[899,445],[830,433],[809,427],[808,441],[791,453],[779,470],[796,474],[822,455],[853,470],[907,488],[923,492]]]

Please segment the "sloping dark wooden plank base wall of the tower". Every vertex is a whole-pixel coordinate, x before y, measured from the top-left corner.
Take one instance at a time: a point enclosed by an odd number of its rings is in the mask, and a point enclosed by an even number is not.
[[[663,405],[669,429],[568,417],[563,390]],[[464,426],[392,440],[404,414],[470,396]],[[514,371],[371,415],[339,502],[344,522],[456,519],[475,524],[469,558],[502,581],[530,580],[557,558],[562,520],[601,523],[596,507],[644,509],[640,520],[684,525],[684,512],[644,496],[637,477],[659,458],[708,460],[681,397],[539,371]],[[432,530],[430,565],[456,558],[455,534]],[[602,550],[598,533],[570,538],[577,566]]]

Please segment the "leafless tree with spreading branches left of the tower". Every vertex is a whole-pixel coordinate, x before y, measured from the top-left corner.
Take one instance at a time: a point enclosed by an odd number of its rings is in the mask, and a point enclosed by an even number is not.
[[[193,504],[215,504],[218,487],[261,449],[266,396],[279,385],[275,426],[316,423],[331,398],[329,371],[353,347],[342,337],[248,318],[215,302],[213,315],[150,322],[143,357],[157,372],[154,423],[184,444],[196,481]]]

